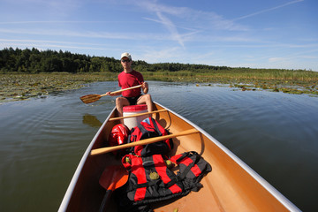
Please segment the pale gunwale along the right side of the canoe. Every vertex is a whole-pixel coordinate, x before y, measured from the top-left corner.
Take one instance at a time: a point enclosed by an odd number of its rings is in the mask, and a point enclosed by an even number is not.
[[[277,201],[280,201],[285,208],[289,209],[290,211],[301,211],[299,208],[297,208],[292,201],[289,201],[282,193],[280,193],[278,190],[276,190],[276,188],[274,186],[271,186],[269,184],[269,182],[267,182],[264,178],[262,178],[255,170],[253,170],[251,167],[249,167],[246,163],[244,163],[241,159],[239,159],[239,157],[237,155],[235,155],[234,153],[231,152],[230,149],[226,148],[225,146],[223,146],[222,143],[220,143],[220,141],[216,140],[214,137],[212,137],[210,134],[208,134],[207,132],[205,132],[203,129],[201,129],[200,126],[195,125],[193,122],[191,122],[190,120],[186,119],[186,117],[182,117],[181,115],[179,115],[178,113],[174,112],[173,110],[170,110],[168,108],[166,108],[165,106],[161,105],[158,102],[155,102],[157,105],[159,105],[160,107],[163,107],[163,109],[168,110],[170,113],[173,113],[175,116],[183,119],[184,121],[186,121],[189,125],[192,125],[195,129],[197,129],[200,133],[202,133],[203,135],[205,135],[209,140],[213,141],[216,146],[218,148],[221,148],[222,151],[226,154],[229,155],[231,157],[231,159],[235,162],[238,163],[239,166],[243,169],[246,170],[246,172],[252,176],[261,186],[263,186],[267,191],[269,191],[269,193],[271,193]]]

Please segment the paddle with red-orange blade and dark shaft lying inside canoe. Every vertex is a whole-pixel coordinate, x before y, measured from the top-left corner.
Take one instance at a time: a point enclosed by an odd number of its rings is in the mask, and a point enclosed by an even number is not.
[[[108,202],[110,201],[111,193],[124,186],[128,180],[128,172],[122,165],[107,166],[102,172],[99,180],[100,185],[106,189],[106,193],[102,199],[102,204],[99,209],[100,212],[105,211]]]

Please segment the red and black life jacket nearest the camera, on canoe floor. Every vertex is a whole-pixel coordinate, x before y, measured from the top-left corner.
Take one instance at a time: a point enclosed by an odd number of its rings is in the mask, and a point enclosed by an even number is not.
[[[126,157],[129,159],[126,160]],[[140,208],[148,206],[148,203],[186,196],[191,191],[197,192],[201,188],[201,178],[212,170],[196,152],[172,156],[170,161],[178,164],[177,175],[167,168],[162,155],[125,155],[122,163],[130,175],[127,184],[115,194],[119,210],[141,211]],[[150,177],[154,172],[157,178]]]

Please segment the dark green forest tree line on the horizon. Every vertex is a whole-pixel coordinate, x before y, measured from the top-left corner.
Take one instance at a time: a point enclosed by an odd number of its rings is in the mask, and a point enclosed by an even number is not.
[[[133,61],[133,69],[139,72],[208,72],[231,70],[227,66],[213,66],[205,64],[161,63],[148,64],[145,61]],[[122,72],[119,59],[114,57],[91,57],[73,54],[69,51],[39,49],[0,50],[0,72]]]

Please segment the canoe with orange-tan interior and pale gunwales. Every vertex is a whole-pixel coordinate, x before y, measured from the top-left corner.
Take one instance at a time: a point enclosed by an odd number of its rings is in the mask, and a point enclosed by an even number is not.
[[[185,117],[155,102],[152,113],[160,125],[169,129],[173,137],[173,154],[188,151],[198,152],[210,165],[212,171],[202,178],[203,187],[177,201],[156,203],[155,211],[300,211],[283,194],[269,185],[254,170],[225,148],[219,141],[203,131]],[[59,211],[98,211],[105,194],[99,178],[109,166],[120,166],[106,140],[114,125],[119,124],[114,109],[102,124],[83,155],[72,181],[64,195]],[[154,140],[148,140],[154,142]],[[116,204],[110,201],[107,211],[116,211]]]

